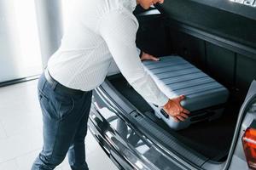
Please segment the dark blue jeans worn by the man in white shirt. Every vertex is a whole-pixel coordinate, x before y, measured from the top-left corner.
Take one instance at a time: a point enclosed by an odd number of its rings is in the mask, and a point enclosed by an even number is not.
[[[70,94],[60,84],[50,84],[44,74],[38,81],[43,113],[44,147],[32,170],[51,170],[68,156],[73,170],[87,170],[84,139],[90,113],[91,91]]]

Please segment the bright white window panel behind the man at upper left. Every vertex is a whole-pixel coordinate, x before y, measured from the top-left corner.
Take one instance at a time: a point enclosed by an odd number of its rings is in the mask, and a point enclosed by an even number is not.
[[[34,0],[0,1],[0,82],[42,72]]]

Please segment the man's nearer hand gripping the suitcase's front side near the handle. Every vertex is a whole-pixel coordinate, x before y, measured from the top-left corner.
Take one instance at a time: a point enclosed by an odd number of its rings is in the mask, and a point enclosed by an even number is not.
[[[169,101],[164,105],[163,109],[169,116],[172,116],[176,122],[185,121],[189,116],[189,111],[184,109],[180,102],[185,99],[184,95],[181,95]]]

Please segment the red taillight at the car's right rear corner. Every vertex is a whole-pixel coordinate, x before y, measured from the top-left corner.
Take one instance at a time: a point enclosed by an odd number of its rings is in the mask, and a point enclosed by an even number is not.
[[[247,128],[242,136],[242,145],[248,167],[256,170],[256,128]]]

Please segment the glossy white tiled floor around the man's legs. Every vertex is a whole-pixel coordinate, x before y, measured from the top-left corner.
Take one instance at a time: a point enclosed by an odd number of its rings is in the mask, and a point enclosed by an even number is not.
[[[29,170],[42,148],[37,83],[35,80],[0,88],[0,170]],[[117,169],[90,132],[85,143],[90,170]],[[55,169],[70,170],[67,159]]]

